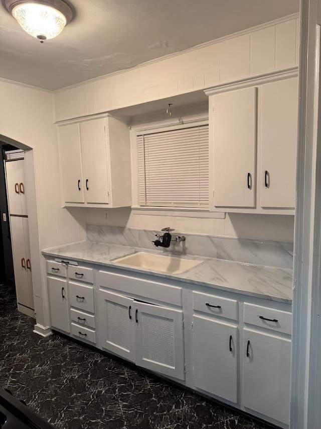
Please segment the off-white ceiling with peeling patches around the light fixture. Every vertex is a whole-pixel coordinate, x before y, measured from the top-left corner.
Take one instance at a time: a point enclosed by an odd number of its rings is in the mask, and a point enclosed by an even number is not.
[[[4,0],[2,0],[4,1]],[[0,4],[0,77],[57,90],[298,12],[299,0],[72,0],[41,44]]]

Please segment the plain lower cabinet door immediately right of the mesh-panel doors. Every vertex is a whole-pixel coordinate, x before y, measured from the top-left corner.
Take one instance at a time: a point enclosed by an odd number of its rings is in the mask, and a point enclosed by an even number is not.
[[[238,330],[230,323],[193,317],[194,385],[237,403]]]

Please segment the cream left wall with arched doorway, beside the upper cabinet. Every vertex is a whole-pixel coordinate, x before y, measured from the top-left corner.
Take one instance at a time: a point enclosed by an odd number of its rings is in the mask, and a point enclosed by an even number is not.
[[[57,131],[53,125],[53,95],[3,80],[0,80],[0,94],[0,135],[33,148],[32,154],[28,152],[27,164],[35,164],[35,184],[30,171],[27,171],[27,178],[28,186],[36,188],[37,202],[32,201],[33,217],[29,223],[31,247],[34,249],[32,265],[35,268],[35,310],[37,322],[45,325],[44,273],[40,274],[40,270],[36,270],[36,267],[41,267],[39,250],[83,240],[85,213],[82,209],[73,209],[69,213],[61,208]],[[18,146],[25,149],[22,145]],[[35,217],[38,217],[38,230],[37,223],[34,223]],[[39,243],[35,243],[38,237]]]

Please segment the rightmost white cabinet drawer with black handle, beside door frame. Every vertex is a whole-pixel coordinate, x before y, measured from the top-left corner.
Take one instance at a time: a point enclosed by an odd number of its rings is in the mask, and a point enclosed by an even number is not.
[[[292,314],[288,311],[244,303],[244,322],[291,335]]]

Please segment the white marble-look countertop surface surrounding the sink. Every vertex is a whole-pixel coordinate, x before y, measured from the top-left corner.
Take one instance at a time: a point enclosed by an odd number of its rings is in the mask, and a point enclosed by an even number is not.
[[[93,263],[106,267],[119,268],[143,274],[153,274],[157,277],[182,280],[186,283],[213,287],[219,290],[241,293],[243,295],[265,298],[285,303],[292,302],[292,270],[261,265],[244,264],[203,256],[178,255],[179,258],[203,261],[181,274],[166,274],[157,271],[118,265],[113,260],[134,252],[146,251],[154,254],[164,254],[161,249],[142,249],[137,247],[84,241],[64,247],[43,250],[46,256],[54,258],[73,259],[78,262]]]

